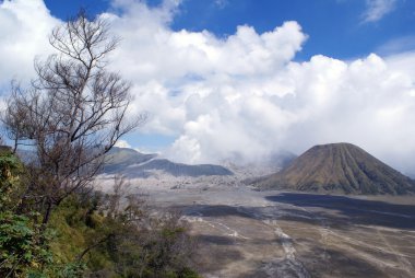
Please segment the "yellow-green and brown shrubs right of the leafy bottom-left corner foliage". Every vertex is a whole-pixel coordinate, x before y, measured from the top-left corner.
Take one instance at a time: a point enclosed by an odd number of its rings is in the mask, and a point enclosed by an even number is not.
[[[58,231],[51,244],[58,262],[71,262],[87,251],[82,262],[91,277],[199,277],[189,267],[193,246],[179,216],[153,219],[133,199],[126,206],[116,202],[112,195],[93,194],[74,195],[61,204],[51,218]],[[145,224],[133,221],[139,216]]]

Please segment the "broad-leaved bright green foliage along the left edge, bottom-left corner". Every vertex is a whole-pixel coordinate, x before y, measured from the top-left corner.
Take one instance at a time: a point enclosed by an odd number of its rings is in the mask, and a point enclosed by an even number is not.
[[[36,213],[19,215],[22,163],[10,152],[0,153],[0,276],[39,277],[52,263],[50,233],[36,224]]]

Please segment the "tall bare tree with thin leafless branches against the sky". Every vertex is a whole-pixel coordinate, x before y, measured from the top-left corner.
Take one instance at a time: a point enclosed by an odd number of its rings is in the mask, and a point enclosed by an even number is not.
[[[49,37],[57,54],[35,60],[37,79],[28,89],[12,85],[2,115],[14,151],[29,144],[37,161],[29,171],[28,193],[49,221],[51,209],[87,186],[117,140],[145,120],[126,120],[130,84],[106,70],[118,39],[108,23],[84,12]]]

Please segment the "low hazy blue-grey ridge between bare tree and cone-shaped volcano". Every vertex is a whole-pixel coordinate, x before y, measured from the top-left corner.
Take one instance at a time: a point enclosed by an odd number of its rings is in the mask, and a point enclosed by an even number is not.
[[[233,172],[220,165],[188,165],[156,157],[157,154],[143,154],[128,148],[114,148],[106,158],[104,173],[119,173],[132,178],[149,177],[156,171],[173,176],[233,175]]]

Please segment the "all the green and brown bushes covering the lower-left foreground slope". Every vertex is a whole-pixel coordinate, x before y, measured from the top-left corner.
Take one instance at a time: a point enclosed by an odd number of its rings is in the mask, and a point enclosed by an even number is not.
[[[179,215],[150,216],[122,178],[112,194],[73,193],[45,225],[19,159],[0,153],[0,277],[198,277]]]

